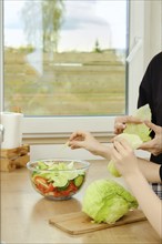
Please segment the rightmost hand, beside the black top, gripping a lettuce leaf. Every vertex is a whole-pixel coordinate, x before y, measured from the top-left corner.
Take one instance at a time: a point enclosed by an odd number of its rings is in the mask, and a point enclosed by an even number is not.
[[[162,153],[162,128],[149,121],[145,121],[144,123],[148,128],[154,131],[155,136],[151,141],[144,142],[139,149],[145,150],[153,155],[159,155]]]

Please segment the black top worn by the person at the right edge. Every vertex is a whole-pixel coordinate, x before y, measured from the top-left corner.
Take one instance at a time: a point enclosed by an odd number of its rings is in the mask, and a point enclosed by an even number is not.
[[[162,52],[151,60],[139,88],[138,108],[146,103],[151,109],[152,122],[162,126]],[[162,153],[151,155],[151,161],[162,164]]]

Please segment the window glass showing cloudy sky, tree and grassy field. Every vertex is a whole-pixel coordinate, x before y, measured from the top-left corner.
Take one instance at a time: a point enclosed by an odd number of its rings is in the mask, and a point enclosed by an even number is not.
[[[126,0],[3,1],[4,110],[126,112]]]

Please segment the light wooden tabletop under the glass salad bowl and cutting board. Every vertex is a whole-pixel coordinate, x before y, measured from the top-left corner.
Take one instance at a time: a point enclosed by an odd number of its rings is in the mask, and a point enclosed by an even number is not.
[[[70,235],[49,218],[57,214],[78,212],[85,187],[97,179],[108,177],[107,162],[91,162],[83,189],[71,200],[49,201],[37,193],[27,169],[1,173],[1,242],[7,244],[156,244],[161,243],[148,221],[115,226],[98,232]]]

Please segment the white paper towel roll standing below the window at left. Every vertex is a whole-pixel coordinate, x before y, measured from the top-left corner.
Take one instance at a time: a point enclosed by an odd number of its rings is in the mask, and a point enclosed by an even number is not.
[[[0,123],[3,125],[1,149],[14,149],[22,145],[22,113],[1,112]]]

